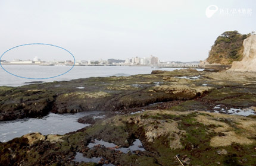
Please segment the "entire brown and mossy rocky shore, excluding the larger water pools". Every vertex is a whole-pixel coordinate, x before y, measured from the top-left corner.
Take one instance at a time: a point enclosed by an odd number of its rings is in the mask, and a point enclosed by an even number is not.
[[[63,136],[0,143],[0,165],[255,165],[255,80],[253,72],[181,69],[0,87],[1,121],[105,111]],[[120,151],[137,139],[145,151]],[[89,148],[95,140],[116,147]],[[101,161],[78,162],[77,154]]]

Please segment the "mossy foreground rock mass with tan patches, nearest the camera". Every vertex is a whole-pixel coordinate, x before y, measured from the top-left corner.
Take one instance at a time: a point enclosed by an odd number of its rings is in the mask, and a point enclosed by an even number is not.
[[[64,136],[30,133],[0,143],[0,164],[79,165],[74,157],[81,153],[88,158],[104,158],[105,163],[114,165],[179,165],[177,154],[186,165],[214,165],[216,162],[220,165],[254,165],[255,125],[255,119],[243,116],[174,109],[148,110],[102,119]],[[95,139],[117,146],[88,148]],[[118,151],[132,145],[135,139],[141,140],[145,151],[127,154]]]

